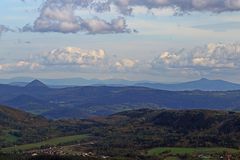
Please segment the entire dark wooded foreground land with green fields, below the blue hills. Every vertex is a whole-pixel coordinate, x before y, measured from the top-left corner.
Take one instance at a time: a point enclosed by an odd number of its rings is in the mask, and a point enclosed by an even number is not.
[[[1,117],[1,136],[11,129],[12,132],[7,133],[16,136],[18,141],[9,143],[7,147],[1,140],[4,148],[0,152],[91,153],[93,157],[104,155],[128,159],[149,159],[149,156],[161,157],[165,153],[175,157],[181,157],[182,154],[199,156],[203,151],[214,157],[226,151],[236,154],[233,156],[240,156],[240,113],[236,112],[140,109],[86,120],[48,121],[1,107]],[[20,121],[18,128],[12,124],[16,117]],[[35,127],[29,122],[32,118],[35,118]],[[24,126],[30,128],[24,129]],[[13,131],[18,134],[12,134]],[[28,136],[23,138],[20,135]],[[84,135],[88,135],[88,138],[84,142],[78,141],[86,137]],[[74,141],[66,144],[69,139]],[[14,144],[18,146],[11,147]]]

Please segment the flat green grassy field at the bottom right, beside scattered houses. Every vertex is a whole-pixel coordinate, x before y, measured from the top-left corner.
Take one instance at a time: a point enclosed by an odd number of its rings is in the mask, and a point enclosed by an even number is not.
[[[148,151],[148,155],[158,156],[162,153],[170,154],[208,154],[208,153],[239,153],[240,150],[232,148],[178,148],[178,147],[159,147]]]

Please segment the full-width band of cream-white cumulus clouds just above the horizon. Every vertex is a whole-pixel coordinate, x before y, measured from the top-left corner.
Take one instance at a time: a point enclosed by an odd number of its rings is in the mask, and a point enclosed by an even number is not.
[[[0,63],[0,72],[71,71],[77,73],[141,73],[159,76],[200,76],[238,73],[240,43],[210,43],[193,49],[165,51],[153,59],[117,58],[103,49],[77,47],[53,49],[32,59]]]

